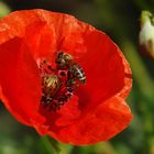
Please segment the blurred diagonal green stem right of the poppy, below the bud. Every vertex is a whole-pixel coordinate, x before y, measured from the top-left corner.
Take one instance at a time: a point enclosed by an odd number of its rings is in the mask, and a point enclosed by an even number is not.
[[[130,41],[125,41],[123,44],[123,51],[130,62],[133,77],[139,85],[141,92],[152,100],[154,96],[154,82],[140,58],[136,47]]]

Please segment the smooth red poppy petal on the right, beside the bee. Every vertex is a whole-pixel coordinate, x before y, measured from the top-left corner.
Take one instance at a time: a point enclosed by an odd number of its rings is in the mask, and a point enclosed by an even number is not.
[[[80,106],[88,108],[119,95],[123,99],[132,87],[131,69],[118,46],[102,32],[87,31],[87,54],[80,59],[87,82],[78,89]],[[84,95],[82,95],[84,94]],[[91,107],[89,106],[91,103]]]

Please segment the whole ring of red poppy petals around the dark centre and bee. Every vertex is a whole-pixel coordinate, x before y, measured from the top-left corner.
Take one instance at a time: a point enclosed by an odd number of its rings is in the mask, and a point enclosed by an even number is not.
[[[40,106],[37,62],[54,65],[55,54],[72,54],[84,68],[86,85],[59,111]],[[109,140],[132,119],[125,97],[131,69],[108,35],[63,13],[16,11],[0,20],[0,98],[20,122],[64,143]]]

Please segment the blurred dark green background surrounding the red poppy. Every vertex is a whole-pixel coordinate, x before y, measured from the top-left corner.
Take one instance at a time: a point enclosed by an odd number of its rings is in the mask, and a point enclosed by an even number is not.
[[[140,14],[153,12],[154,0],[0,0],[0,16],[34,8],[74,14],[102,30],[120,46],[133,70],[130,127],[91,146],[61,144],[61,154],[154,154],[154,61],[139,52]],[[54,154],[46,140],[18,123],[0,103],[0,154],[34,153]]]

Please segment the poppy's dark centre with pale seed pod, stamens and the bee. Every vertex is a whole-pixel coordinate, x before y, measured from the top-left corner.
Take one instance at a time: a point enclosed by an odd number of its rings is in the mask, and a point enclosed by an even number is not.
[[[86,82],[82,68],[72,55],[57,53],[55,64],[55,68],[47,61],[38,65],[42,78],[41,106],[53,111],[59,110],[72,98],[78,82]]]

